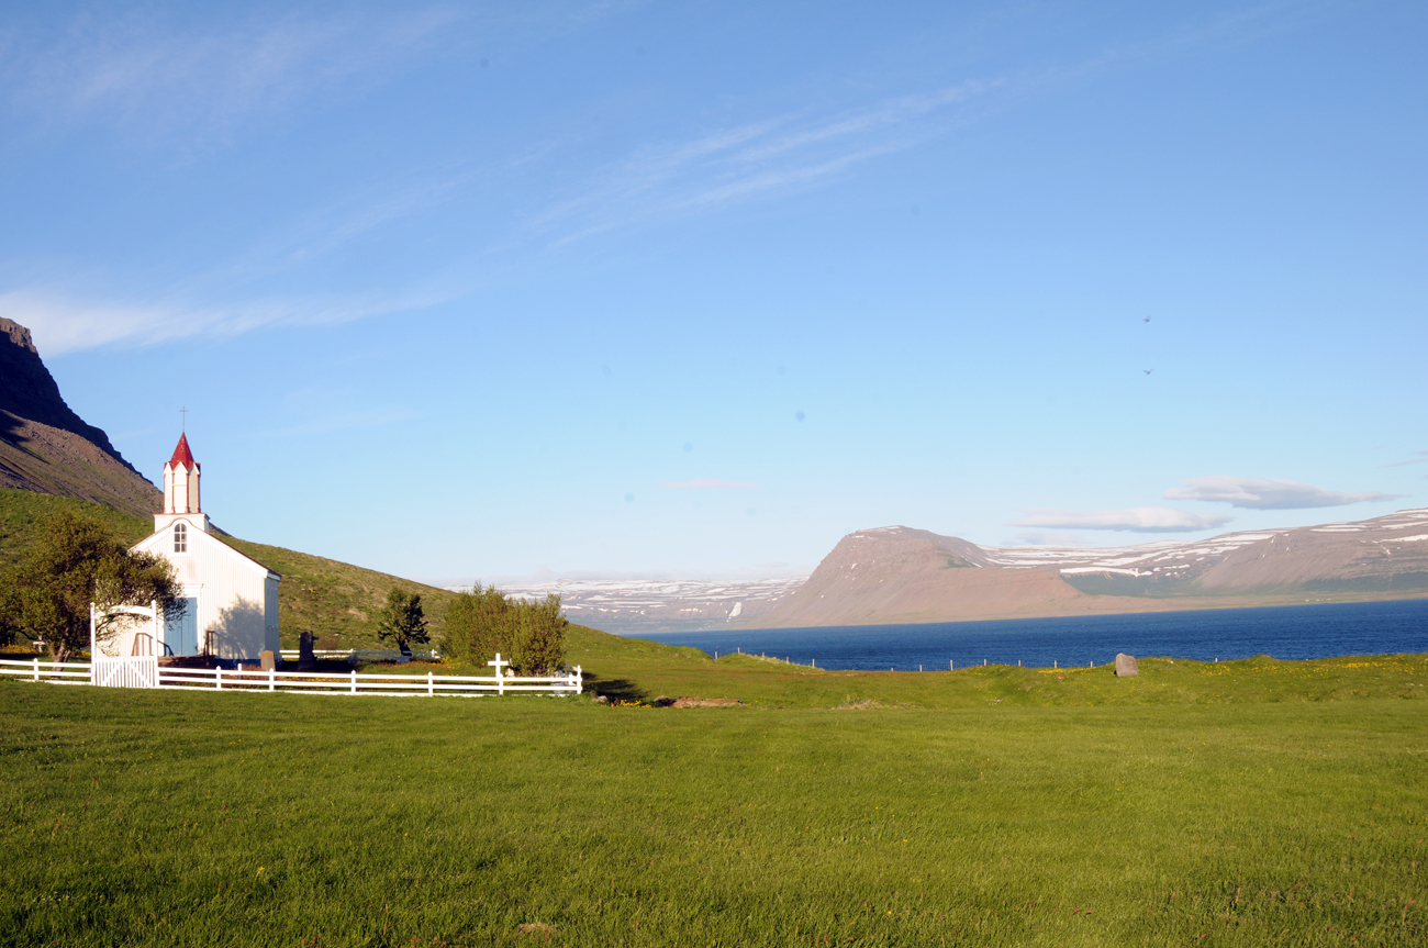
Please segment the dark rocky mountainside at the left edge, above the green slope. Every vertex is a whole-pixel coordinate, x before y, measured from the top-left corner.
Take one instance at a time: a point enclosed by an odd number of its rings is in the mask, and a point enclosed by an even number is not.
[[[136,517],[163,505],[150,484],[60,397],[30,330],[0,318],[0,488],[89,500]]]

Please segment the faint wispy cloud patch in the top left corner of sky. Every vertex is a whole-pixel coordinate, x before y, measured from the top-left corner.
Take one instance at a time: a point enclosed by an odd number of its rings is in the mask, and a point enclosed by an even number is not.
[[[97,118],[126,133],[181,131],[191,147],[244,117],[380,81],[430,54],[466,16],[448,6],[326,16],[243,10],[193,21],[90,13],[50,36],[11,34],[0,104],[46,123]]]

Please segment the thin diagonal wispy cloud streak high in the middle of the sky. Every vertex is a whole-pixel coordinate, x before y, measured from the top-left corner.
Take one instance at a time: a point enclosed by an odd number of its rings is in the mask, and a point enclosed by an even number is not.
[[[617,227],[815,186],[947,130],[955,107],[1005,80],[965,83],[827,114],[784,114],[641,147],[528,217],[564,243]]]

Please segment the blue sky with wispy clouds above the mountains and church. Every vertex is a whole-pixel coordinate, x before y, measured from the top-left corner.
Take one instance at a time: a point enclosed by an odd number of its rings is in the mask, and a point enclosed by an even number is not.
[[[428,580],[1428,503],[1428,7],[7,4],[0,316]],[[1148,321],[1147,321],[1148,320]]]

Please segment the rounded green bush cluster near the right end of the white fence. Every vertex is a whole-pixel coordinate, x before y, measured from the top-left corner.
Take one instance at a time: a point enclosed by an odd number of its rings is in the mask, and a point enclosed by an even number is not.
[[[565,630],[560,597],[541,602],[513,600],[480,583],[460,594],[447,611],[443,651],[480,664],[496,652],[521,675],[555,674],[565,665]]]

